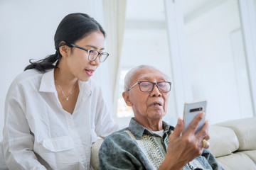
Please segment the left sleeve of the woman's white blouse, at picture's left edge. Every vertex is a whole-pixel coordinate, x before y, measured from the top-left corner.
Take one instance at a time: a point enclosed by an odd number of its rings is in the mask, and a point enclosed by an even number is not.
[[[9,89],[4,114],[3,149],[9,169],[46,170],[33,152],[34,137],[26,120],[26,98],[21,86]]]

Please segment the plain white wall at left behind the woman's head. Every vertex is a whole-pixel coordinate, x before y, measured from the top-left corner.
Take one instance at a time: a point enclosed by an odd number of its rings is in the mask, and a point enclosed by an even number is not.
[[[11,81],[23,72],[29,64],[29,59],[41,59],[55,53],[53,36],[58,24],[68,13],[82,12],[96,19],[103,18],[99,16],[102,14],[101,10],[92,11],[95,8],[91,8],[100,4],[99,2],[90,0],[0,1],[0,131],[4,123],[5,96]],[[102,6],[97,6],[97,9],[101,8]]]

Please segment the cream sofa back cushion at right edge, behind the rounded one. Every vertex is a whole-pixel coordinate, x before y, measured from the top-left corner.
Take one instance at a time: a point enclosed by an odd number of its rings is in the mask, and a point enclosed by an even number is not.
[[[234,130],[239,141],[238,150],[244,151],[256,149],[256,118],[229,120],[216,125]]]

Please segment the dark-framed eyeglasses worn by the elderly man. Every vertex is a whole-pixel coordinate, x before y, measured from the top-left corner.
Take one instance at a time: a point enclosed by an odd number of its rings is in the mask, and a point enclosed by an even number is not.
[[[138,81],[136,84],[139,84],[139,89],[143,92],[153,91],[154,85],[156,85],[157,88],[159,89],[159,91],[161,91],[161,92],[171,91],[171,82],[169,82],[169,81],[160,81],[160,82],[156,82],[156,83],[151,82],[151,81]],[[128,89],[128,91],[130,89],[132,89],[132,87],[134,87],[136,84],[131,86]]]

